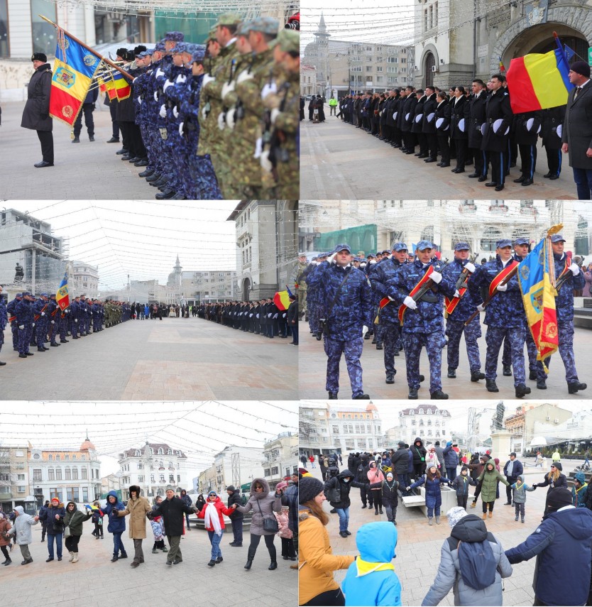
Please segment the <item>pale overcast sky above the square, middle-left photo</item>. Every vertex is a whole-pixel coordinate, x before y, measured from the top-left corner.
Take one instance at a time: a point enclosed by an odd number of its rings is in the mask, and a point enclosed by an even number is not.
[[[177,254],[183,271],[236,270],[234,222],[226,219],[239,201],[4,202],[49,222],[65,238],[72,261],[99,267],[99,288],[130,280],[166,284]]]

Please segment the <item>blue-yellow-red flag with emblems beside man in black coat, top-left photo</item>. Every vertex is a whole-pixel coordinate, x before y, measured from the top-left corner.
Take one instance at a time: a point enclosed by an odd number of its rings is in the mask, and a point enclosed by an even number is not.
[[[50,116],[70,126],[75,123],[100,62],[97,55],[57,28]]]

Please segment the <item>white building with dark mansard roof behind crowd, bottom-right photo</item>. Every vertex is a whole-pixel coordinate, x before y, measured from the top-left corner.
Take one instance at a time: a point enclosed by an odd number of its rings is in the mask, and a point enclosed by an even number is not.
[[[412,445],[417,437],[422,439],[424,446],[439,440],[444,447],[453,434],[449,411],[436,405],[417,405],[401,410],[399,425],[391,430],[389,437],[394,444],[385,447],[396,447],[399,441]]]

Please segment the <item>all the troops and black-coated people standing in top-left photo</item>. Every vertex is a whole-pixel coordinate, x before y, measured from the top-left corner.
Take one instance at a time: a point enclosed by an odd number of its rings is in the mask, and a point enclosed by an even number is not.
[[[116,63],[133,77],[128,96],[109,103],[121,160],[143,168],[157,199],[297,199],[297,99],[300,13],[284,26],[270,17],[219,16],[207,40],[188,43],[172,31],[153,48],[119,48]],[[43,160],[54,165],[52,77],[47,56],[32,57],[35,74],[23,112],[38,132]],[[99,80],[109,84],[109,77]],[[84,100],[90,141],[97,83]],[[106,97],[108,99],[108,97]],[[72,143],[80,143],[81,124]]]

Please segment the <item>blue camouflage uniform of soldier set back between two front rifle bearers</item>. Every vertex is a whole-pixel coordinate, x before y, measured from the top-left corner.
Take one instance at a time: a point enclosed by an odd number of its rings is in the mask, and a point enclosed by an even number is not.
[[[462,248],[459,248],[461,246]],[[455,251],[461,251],[464,248],[468,249],[468,244],[459,243],[455,247]],[[459,280],[459,276],[464,270],[464,266],[469,263],[468,259],[462,260],[454,258],[444,270],[442,270],[442,276],[445,276],[450,283],[456,285],[456,281]],[[466,279],[471,279],[471,275]],[[459,368],[459,349],[461,346],[461,337],[464,334],[464,341],[466,345],[466,356],[468,358],[468,366],[471,369],[471,379],[477,381],[477,374],[481,371],[481,356],[479,354],[479,346],[477,339],[481,337],[481,321],[478,315],[465,327],[465,322],[471,317],[473,312],[476,312],[477,306],[471,297],[471,292],[467,289],[461,300],[454,308],[454,311],[446,319],[446,337],[448,337],[448,345],[446,346],[448,352],[448,370],[455,371]]]

